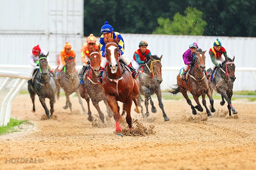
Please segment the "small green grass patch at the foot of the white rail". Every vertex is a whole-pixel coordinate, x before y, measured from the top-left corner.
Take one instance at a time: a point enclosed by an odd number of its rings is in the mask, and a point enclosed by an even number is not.
[[[18,132],[18,130],[15,130],[14,127],[19,126],[23,123],[29,123],[29,121],[17,120],[17,118],[15,119],[11,118],[10,122],[6,126],[0,127],[0,135],[10,133],[10,132]]]

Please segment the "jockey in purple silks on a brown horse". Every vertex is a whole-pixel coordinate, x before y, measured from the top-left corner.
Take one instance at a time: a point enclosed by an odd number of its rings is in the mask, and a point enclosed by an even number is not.
[[[182,80],[185,79],[184,73],[187,71],[189,66],[195,64],[195,55],[197,54],[197,49],[198,49],[197,43],[191,42],[189,45],[189,49],[186,52],[184,52],[184,54],[182,55],[185,63],[185,66],[180,69],[180,78]]]

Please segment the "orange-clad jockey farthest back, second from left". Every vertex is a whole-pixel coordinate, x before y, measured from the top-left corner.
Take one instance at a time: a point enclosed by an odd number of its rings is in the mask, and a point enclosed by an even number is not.
[[[76,53],[71,48],[72,48],[71,44],[69,42],[66,42],[64,49],[61,51],[61,54],[59,56],[61,62],[58,66],[56,76],[62,71],[63,67],[66,65],[66,61],[69,60],[69,57],[74,58],[74,61],[76,63],[76,58],[75,58]]]

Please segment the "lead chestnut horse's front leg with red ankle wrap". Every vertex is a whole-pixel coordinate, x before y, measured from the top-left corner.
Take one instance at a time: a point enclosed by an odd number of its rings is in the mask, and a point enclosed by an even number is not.
[[[124,135],[121,133],[121,128],[120,128],[120,124],[119,124],[119,119],[121,118],[121,115],[118,112],[119,106],[117,106],[117,101],[115,100],[115,96],[106,95],[106,97],[107,97],[107,103],[109,104],[109,106],[113,112],[113,116],[114,116],[114,119],[116,122],[116,132],[117,132],[116,135],[120,135],[123,137]]]

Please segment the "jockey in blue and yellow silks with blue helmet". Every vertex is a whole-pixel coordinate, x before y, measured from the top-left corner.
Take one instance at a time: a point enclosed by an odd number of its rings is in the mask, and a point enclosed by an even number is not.
[[[116,36],[118,36],[118,48],[121,52],[121,56],[120,56],[120,60],[123,61],[124,64],[126,64],[132,71],[132,77],[135,79],[138,77],[138,73],[136,72],[136,70],[133,68],[132,63],[126,58],[125,53],[124,53],[124,40],[123,37],[120,35],[119,32],[114,32],[113,27],[106,21],[105,24],[101,27],[101,38],[100,38],[100,53],[101,55],[104,57],[101,60],[101,68],[100,68],[100,72],[103,72],[103,70],[105,69],[105,66],[107,64],[107,59],[105,57],[105,42],[104,42],[104,37],[106,39],[109,38],[116,38]],[[102,84],[102,74],[98,75],[97,78],[97,82],[99,84]]]

